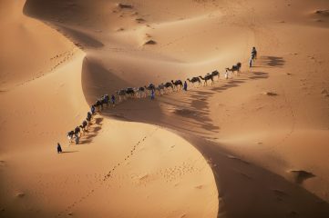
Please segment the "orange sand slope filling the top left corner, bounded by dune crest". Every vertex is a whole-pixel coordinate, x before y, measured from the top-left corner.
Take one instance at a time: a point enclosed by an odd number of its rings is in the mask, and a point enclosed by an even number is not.
[[[1,92],[54,73],[70,61],[77,50],[56,30],[24,15],[25,2],[4,0],[0,3]]]

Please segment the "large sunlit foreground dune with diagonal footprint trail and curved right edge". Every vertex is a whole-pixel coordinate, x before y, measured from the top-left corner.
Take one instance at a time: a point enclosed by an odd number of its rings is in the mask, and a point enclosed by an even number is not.
[[[42,31],[45,26],[40,26]],[[0,96],[7,103],[1,108],[1,114],[6,114],[1,117],[6,124],[1,133],[1,173],[6,178],[1,185],[1,214],[89,217],[94,211],[100,217],[104,213],[215,217],[219,203],[211,168],[193,146],[159,127],[145,138],[145,144],[139,144],[155,126],[97,117],[81,146],[62,143],[66,153],[55,153],[56,142],[67,142],[67,130],[79,124],[88,109],[77,83],[84,58],[77,50],[53,74]],[[31,97],[12,101],[21,96]],[[108,142],[114,143],[108,146]],[[136,144],[140,146],[135,148]],[[116,166],[113,178],[105,183],[104,176]]]

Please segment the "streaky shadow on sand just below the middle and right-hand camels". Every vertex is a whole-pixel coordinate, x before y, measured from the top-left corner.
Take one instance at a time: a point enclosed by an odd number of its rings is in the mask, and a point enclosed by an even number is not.
[[[102,114],[118,120],[161,124],[185,133],[206,137],[209,134],[217,134],[221,129],[220,126],[213,124],[209,115],[209,98],[214,94],[244,84],[248,80],[266,78],[268,78],[268,74],[263,72],[242,73],[241,76],[227,80],[224,84],[208,86],[206,90],[181,91],[177,93],[180,95],[179,97],[176,97],[176,94],[164,94],[160,97],[157,96],[155,101],[149,99],[129,100],[124,104],[117,105],[114,109],[105,110]],[[219,83],[222,82],[221,80]],[[193,128],[185,127],[189,125],[192,125]]]

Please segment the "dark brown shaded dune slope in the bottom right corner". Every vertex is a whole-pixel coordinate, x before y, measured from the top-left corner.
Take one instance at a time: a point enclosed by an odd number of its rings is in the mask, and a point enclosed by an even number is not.
[[[211,165],[223,204],[218,217],[328,217],[329,204],[303,186],[228,153],[220,144],[183,137]]]

